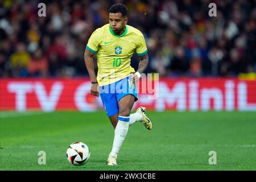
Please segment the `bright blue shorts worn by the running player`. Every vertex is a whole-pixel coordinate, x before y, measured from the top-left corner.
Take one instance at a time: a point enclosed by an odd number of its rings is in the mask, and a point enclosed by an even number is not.
[[[108,117],[119,113],[118,101],[129,94],[138,100],[137,84],[133,84],[129,75],[113,84],[100,86],[100,97]]]

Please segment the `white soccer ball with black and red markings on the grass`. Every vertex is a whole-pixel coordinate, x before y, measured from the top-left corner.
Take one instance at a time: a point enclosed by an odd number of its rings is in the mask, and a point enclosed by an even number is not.
[[[67,159],[75,166],[82,166],[90,159],[90,149],[82,142],[71,143],[67,149]]]

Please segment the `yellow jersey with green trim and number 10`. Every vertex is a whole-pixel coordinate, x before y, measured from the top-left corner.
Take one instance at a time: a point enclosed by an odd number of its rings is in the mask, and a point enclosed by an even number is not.
[[[131,56],[147,53],[143,34],[137,28],[126,25],[122,35],[115,35],[109,24],[97,28],[90,36],[86,49],[97,53],[97,81],[99,86],[112,84],[135,73]]]

